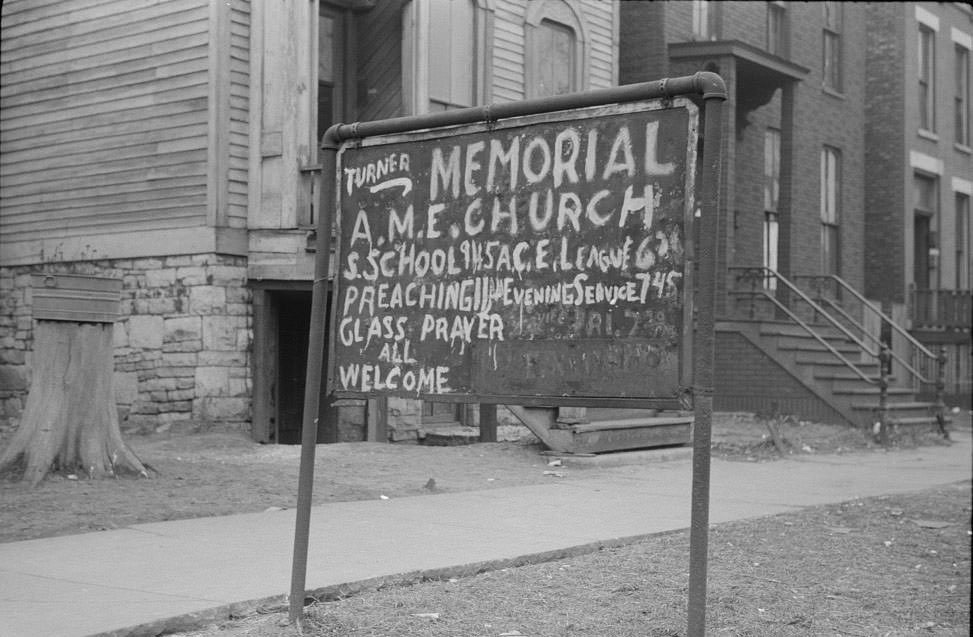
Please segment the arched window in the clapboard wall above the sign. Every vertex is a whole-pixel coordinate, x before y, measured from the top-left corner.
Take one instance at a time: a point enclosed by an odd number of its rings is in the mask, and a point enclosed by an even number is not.
[[[527,7],[525,93],[547,97],[583,90],[588,38],[581,10],[569,0],[536,0]]]

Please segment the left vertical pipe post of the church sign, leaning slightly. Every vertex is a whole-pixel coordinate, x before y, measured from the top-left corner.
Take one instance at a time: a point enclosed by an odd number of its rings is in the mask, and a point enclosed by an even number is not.
[[[331,265],[331,224],[335,206],[335,173],[338,144],[328,129],[321,139],[321,183],[318,188],[317,251],[311,288],[311,329],[308,334],[307,380],[304,385],[304,418],[301,424],[301,465],[297,483],[297,521],[294,528],[294,560],[291,565],[290,620],[299,622],[304,612],[307,578],[307,545],[311,528],[311,493],[314,487],[314,447],[318,437],[321,380],[324,377],[325,331],[328,311],[328,269]]]

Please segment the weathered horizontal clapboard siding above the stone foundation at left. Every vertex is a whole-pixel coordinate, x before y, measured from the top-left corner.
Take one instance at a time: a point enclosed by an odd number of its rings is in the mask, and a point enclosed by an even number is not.
[[[131,254],[132,236],[245,226],[249,7],[234,0],[227,52],[214,58],[217,4],[3,3],[0,262],[111,258]],[[214,92],[221,74],[226,90]],[[214,108],[221,94],[228,104]],[[214,137],[221,109],[229,130]],[[213,192],[214,163],[228,192]],[[186,250],[158,240],[146,248]]]

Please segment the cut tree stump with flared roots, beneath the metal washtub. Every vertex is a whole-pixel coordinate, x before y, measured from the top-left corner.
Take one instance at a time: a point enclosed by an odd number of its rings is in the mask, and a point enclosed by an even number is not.
[[[0,454],[0,471],[22,467],[22,479],[32,485],[50,471],[148,477],[118,424],[113,326],[38,321],[33,358],[27,405]]]

